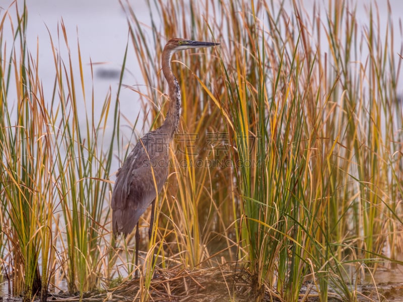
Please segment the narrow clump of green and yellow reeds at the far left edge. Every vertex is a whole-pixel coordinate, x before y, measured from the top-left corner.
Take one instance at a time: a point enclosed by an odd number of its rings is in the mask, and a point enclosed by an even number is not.
[[[47,178],[51,163],[45,156],[51,152],[51,145],[48,143],[48,129],[44,122],[47,116],[40,110],[44,104],[38,100],[41,87],[36,72],[37,57],[30,56],[25,47],[25,8],[21,14],[17,9],[17,18],[19,26],[14,35],[16,38],[10,59],[2,57],[2,205],[11,223],[11,229],[6,234],[14,249],[13,265],[21,268],[20,273],[12,274],[14,293],[24,290],[24,300],[30,300],[33,294],[47,292],[48,272],[52,269],[54,255],[51,248],[52,183]],[[17,84],[16,94],[20,100],[16,106],[14,125],[7,103],[9,81],[13,80]],[[42,274],[38,263],[40,254]],[[41,299],[44,299],[43,294]]]

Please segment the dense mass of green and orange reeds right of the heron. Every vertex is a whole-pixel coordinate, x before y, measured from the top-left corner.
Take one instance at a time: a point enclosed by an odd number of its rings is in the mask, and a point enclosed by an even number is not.
[[[400,221],[395,190],[401,185],[395,182],[398,170],[391,164],[396,163],[391,158],[398,149],[391,142],[398,140],[390,117],[401,111],[391,109],[396,103],[388,102],[396,99],[398,74],[388,46],[393,39],[391,21],[382,39],[379,31],[375,35],[372,12],[376,8],[371,7],[371,26],[360,37],[355,9],[347,2],[324,13],[314,7],[313,15],[298,2],[286,10],[284,4],[270,1],[158,2],[156,11],[162,24],[157,30],[157,22],[152,21],[150,37],[156,55],[142,62],[147,66],[146,83],[161,87],[158,91],[165,91],[165,84],[155,83],[151,73],[159,71],[154,57],[159,58],[161,40],[183,36],[223,43],[218,48],[220,65],[215,58],[205,62],[203,71],[214,83],[211,88],[203,80],[198,87],[193,84],[204,75],[198,73],[201,67],[191,61],[192,56],[178,58],[193,74],[173,64],[183,83],[182,125],[187,133],[204,139],[192,140],[184,152],[187,169],[178,168],[182,155],[173,153],[176,177],[169,180],[168,191],[176,183],[179,191],[168,194],[168,200],[174,197],[167,204],[175,207],[165,211],[183,223],[172,226],[175,233],[187,234],[188,242],[182,246],[181,236],[175,237],[178,254],[193,255],[197,243],[225,230],[227,239],[240,243],[239,256],[255,275],[256,292],[262,292],[263,286],[276,287],[287,300],[297,300],[303,281],[312,278],[321,300],[327,300],[329,284],[347,299],[355,299],[354,289],[344,281],[343,264],[365,262],[371,267],[375,259],[384,257],[378,258],[388,235],[382,234],[381,226]],[[195,13],[200,11],[206,12],[206,23]],[[133,12],[130,18],[136,53],[154,54]],[[346,33],[343,40],[342,33]],[[328,50],[320,46],[323,39]],[[357,55],[365,45],[368,60]],[[353,60],[367,63],[357,72]],[[390,66],[390,73],[384,66]],[[367,79],[371,79],[369,86],[364,85]],[[207,122],[206,113],[214,119]],[[153,116],[159,123],[158,110]],[[228,135],[229,158],[234,163],[229,169],[190,165],[206,156],[210,127]],[[193,150],[198,150],[196,155]],[[218,177],[205,177],[214,174]],[[213,193],[197,193],[203,190]],[[220,190],[225,196],[212,198]],[[217,213],[213,224],[222,226],[220,232],[213,228],[200,233],[206,204],[212,216]],[[231,223],[223,217],[235,219]],[[395,238],[395,232],[388,234]],[[183,260],[192,267],[203,258]]]

